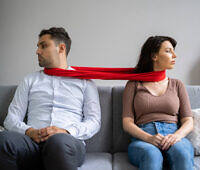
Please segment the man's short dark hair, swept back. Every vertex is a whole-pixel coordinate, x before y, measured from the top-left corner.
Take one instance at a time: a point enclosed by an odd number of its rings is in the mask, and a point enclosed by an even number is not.
[[[66,56],[67,56],[71,48],[71,39],[68,33],[65,31],[65,29],[62,27],[59,27],[59,28],[52,27],[49,29],[43,29],[39,34],[39,38],[41,38],[43,35],[46,35],[46,34],[51,35],[51,39],[55,41],[56,45],[59,45],[60,43],[65,43]]]

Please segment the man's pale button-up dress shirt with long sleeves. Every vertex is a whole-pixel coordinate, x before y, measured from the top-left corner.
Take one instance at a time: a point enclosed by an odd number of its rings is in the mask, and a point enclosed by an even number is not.
[[[23,122],[26,113],[27,124]],[[19,84],[4,121],[10,131],[25,134],[30,127],[56,126],[80,140],[91,138],[100,125],[99,95],[93,81],[49,76],[43,71]]]

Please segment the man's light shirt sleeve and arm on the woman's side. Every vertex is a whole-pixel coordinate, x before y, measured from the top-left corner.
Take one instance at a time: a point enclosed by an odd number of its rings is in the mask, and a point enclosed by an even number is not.
[[[72,136],[80,140],[91,138],[100,130],[101,126],[98,90],[91,80],[87,80],[87,86],[84,91],[83,115],[82,122],[73,123],[65,128]]]

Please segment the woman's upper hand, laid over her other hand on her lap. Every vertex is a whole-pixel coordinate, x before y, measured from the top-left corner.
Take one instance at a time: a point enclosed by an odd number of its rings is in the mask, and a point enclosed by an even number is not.
[[[167,149],[169,149],[170,146],[174,145],[176,142],[178,142],[180,140],[181,140],[181,136],[176,133],[164,136],[164,138],[161,142],[161,149],[167,150]]]

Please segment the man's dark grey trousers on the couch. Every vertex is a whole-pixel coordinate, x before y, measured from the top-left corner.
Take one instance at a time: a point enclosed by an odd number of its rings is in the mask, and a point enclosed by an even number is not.
[[[37,144],[16,132],[0,132],[0,170],[77,170],[84,144],[69,134],[55,134]]]

